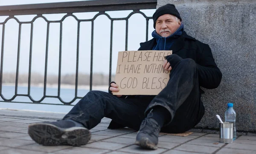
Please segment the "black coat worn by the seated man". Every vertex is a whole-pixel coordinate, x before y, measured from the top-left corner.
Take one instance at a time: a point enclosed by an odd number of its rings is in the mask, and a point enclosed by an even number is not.
[[[140,43],[139,50],[152,50],[154,45],[157,44],[155,38]],[[197,63],[198,68],[198,79],[199,79],[199,86],[204,87],[207,89],[214,89],[217,88],[218,85],[221,83],[222,73],[218,69],[213,56],[212,51],[209,48],[209,45],[204,44],[195,38],[186,34],[183,31],[182,35],[177,38],[174,44],[171,46],[170,49],[172,50],[173,54],[177,54],[183,59],[190,58],[193,59]],[[204,93],[203,90],[200,88],[200,93]],[[126,96],[122,96],[126,97]],[[128,98],[136,98],[136,97],[144,97],[149,98],[149,100],[154,98],[154,95],[129,95]],[[109,129],[117,129],[122,128],[125,126],[120,125],[119,123],[111,121],[110,125],[108,126]]]

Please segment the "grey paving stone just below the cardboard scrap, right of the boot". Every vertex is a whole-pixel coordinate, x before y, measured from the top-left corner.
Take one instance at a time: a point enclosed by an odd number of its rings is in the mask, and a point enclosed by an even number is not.
[[[159,141],[163,142],[173,142],[173,143],[184,143],[188,140],[195,139],[198,136],[189,135],[186,137],[183,136],[173,136],[173,135],[165,135],[158,138]]]

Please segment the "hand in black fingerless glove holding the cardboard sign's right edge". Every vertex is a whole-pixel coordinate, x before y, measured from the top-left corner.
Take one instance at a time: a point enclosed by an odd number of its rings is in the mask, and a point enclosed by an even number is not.
[[[163,68],[165,70],[172,70],[172,68],[174,68],[175,65],[181,60],[182,58],[176,54],[168,55],[165,57],[165,60],[163,62]]]

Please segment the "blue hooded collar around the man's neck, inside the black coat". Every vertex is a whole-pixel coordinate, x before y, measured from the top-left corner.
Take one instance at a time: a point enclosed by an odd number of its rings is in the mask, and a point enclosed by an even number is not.
[[[184,25],[181,23],[180,27],[170,36],[162,37],[154,30],[152,32],[152,37],[157,39],[157,44],[154,45],[152,50],[170,50],[172,44],[175,40],[181,36],[182,32],[184,31]]]

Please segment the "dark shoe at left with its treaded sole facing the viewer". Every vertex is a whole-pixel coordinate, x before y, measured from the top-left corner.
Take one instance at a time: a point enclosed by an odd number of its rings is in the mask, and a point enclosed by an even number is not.
[[[28,134],[44,146],[82,146],[91,138],[89,129],[70,120],[30,124]]]

